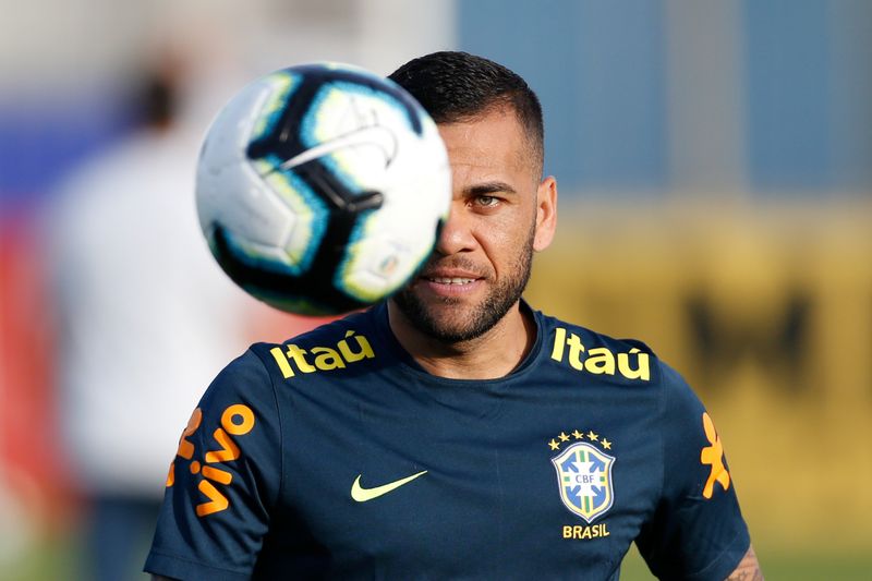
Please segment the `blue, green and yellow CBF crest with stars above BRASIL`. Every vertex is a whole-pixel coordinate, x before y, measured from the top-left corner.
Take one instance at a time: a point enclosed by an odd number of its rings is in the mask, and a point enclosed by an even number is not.
[[[593,432],[583,434],[576,431],[572,434],[577,440],[586,436],[591,441],[597,441],[606,449],[610,448],[607,439],[598,441],[598,436]],[[561,433],[559,441],[552,440],[552,449],[559,449],[560,444],[568,440],[569,436]],[[615,498],[611,465],[615,457],[590,441],[576,441],[552,458],[552,463],[557,471],[560,499],[570,512],[591,523],[611,508]]]

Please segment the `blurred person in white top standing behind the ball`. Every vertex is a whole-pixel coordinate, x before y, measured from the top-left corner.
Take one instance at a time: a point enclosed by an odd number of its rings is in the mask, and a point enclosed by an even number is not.
[[[48,221],[59,415],[97,581],[142,574],[187,414],[250,339],[253,301],[201,234],[203,125],[178,122],[177,74],[155,75],[144,126],[76,171]]]

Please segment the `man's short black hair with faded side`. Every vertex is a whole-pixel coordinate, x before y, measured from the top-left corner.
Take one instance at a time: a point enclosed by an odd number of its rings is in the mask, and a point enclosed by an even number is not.
[[[470,121],[494,107],[511,107],[530,140],[534,167],[542,172],[542,105],[518,73],[469,52],[440,51],[407,62],[388,78],[417,99],[436,123]]]

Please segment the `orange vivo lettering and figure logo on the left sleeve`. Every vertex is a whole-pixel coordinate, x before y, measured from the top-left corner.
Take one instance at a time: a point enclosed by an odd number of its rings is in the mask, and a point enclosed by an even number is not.
[[[203,412],[197,408],[191,415],[191,420],[189,420],[184,432],[182,432],[182,437],[179,440],[179,450],[177,451],[178,457],[185,460],[191,460],[194,457],[194,452],[196,451],[194,444],[187,438],[199,428],[202,421]],[[198,460],[193,460],[189,464],[189,470],[191,470],[192,474],[199,474],[203,476],[197,485],[197,489],[208,498],[208,501],[197,505],[196,512],[198,517],[220,512],[230,506],[227,497],[213,482],[227,486],[233,481],[233,475],[218,468],[218,465],[220,465],[221,462],[237,460],[241,456],[239,446],[237,446],[231,436],[244,436],[251,432],[252,428],[254,428],[254,412],[252,409],[241,403],[230,406],[221,415],[221,427],[218,427],[213,433],[213,438],[218,443],[220,448],[217,450],[204,450],[205,453],[203,458],[207,465],[203,465]],[[175,462],[170,465],[167,486],[172,486],[174,483]]]

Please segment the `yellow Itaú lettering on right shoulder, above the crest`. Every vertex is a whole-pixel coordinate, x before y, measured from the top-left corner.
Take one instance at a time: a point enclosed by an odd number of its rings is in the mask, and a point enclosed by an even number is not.
[[[605,347],[585,349],[581,339],[574,332],[567,336],[562,327],[554,331],[554,348],[552,359],[564,363],[580,372],[594,375],[615,375],[616,371],[627,379],[651,379],[650,356],[637,348],[626,353],[614,353]]]

